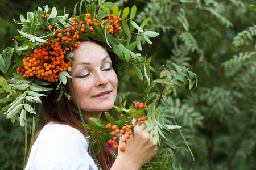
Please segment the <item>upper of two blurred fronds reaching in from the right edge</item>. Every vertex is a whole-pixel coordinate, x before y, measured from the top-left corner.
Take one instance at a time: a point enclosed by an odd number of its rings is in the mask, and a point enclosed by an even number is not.
[[[237,36],[234,37],[232,44],[235,47],[248,45],[248,42],[253,40],[253,36],[256,36],[256,25],[238,33]]]

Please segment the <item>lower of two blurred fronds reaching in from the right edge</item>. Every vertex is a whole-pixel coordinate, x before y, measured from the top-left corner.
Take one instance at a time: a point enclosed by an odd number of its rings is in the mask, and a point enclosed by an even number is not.
[[[239,53],[238,56],[233,56],[232,59],[222,63],[227,77],[233,76],[240,71],[245,62],[256,56],[256,52]]]

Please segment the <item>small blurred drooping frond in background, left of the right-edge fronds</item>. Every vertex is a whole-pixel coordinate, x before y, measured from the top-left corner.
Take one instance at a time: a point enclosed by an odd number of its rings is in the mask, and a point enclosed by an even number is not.
[[[187,46],[188,49],[191,49],[192,52],[195,52],[195,50],[199,51],[196,39],[191,33],[183,32],[180,34],[179,38],[184,41],[185,46]]]

